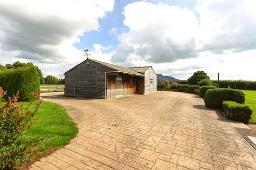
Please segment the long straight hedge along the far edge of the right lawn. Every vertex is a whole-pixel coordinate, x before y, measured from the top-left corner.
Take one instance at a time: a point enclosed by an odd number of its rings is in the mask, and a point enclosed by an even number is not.
[[[213,80],[212,82],[217,84],[218,81]],[[256,81],[220,80],[220,88],[228,88],[228,86],[233,89],[256,90]]]

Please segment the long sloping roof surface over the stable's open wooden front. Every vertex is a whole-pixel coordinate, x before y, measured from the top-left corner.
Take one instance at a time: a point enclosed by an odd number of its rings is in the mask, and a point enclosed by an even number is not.
[[[119,65],[115,65],[115,64],[109,64],[109,63],[101,62],[101,61],[94,60],[94,59],[91,59],[91,58],[88,58],[88,60],[93,61],[95,63],[99,63],[99,64],[104,65],[104,66],[107,66],[107,67],[109,67],[111,69],[114,69],[116,71],[119,71],[119,72],[129,73],[129,74],[133,74],[133,75],[140,75],[140,76],[142,75],[142,74],[138,73],[137,71],[134,71],[133,69],[130,69],[130,68],[127,68],[127,67],[123,67],[123,66],[119,66]]]

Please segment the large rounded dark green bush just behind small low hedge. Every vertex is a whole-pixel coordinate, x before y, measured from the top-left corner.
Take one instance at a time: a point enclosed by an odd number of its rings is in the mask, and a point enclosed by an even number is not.
[[[245,95],[242,90],[237,89],[209,89],[204,94],[204,104],[208,108],[221,108],[225,100],[236,101],[243,104]]]

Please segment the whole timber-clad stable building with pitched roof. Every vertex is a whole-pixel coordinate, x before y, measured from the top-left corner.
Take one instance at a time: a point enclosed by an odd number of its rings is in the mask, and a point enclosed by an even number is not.
[[[106,99],[153,91],[152,66],[127,68],[87,58],[65,73],[65,96]]]

